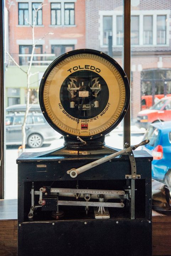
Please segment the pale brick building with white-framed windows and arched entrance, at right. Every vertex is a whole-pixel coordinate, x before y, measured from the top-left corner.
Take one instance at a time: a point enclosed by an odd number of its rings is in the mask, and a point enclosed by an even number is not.
[[[131,86],[132,119],[141,110],[143,94],[164,93],[162,83],[167,80],[167,93],[171,93],[171,2],[170,1],[132,1],[131,13]],[[91,19],[93,17],[93,20]],[[123,57],[123,1],[86,1],[86,47],[96,48],[111,55],[122,66]],[[92,26],[93,24],[93,26]],[[112,40],[111,49],[109,39]],[[161,84],[142,90],[144,71],[159,70],[167,76],[160,77]],[[145,87],[149,81],[145,81]],[[160,88],[158,88],[158,87]],[[155,87],[155,88],[152,88]]]

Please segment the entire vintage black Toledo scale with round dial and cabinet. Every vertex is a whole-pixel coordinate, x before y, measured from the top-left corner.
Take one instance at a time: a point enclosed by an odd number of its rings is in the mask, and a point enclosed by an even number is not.
[[[108,55],[81,49],[41,80],[62,148],[18,159],[18,256],[151,255],[151,160],[139,145],[105,145],[129,106],[129,83]],[[113,145],[117,146],[117,145]]]

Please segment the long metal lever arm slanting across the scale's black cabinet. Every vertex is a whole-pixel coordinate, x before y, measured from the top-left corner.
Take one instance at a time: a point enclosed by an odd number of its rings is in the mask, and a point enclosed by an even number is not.
[[[141,143],[139,143],[137,145],[129,146],[128,148],[122,149],[122,150],[120,150],[120,151],[118,151],[116,153],[113,153],[113,154],[111,154],[109,156],[105,156],[105,157],[103,157],[101,159],[98,159],[96,161],[93,161],[93,162],[91,162],[89,164],[83,165],[83,166],[81,166],[81,167],[79,167],[77,169],[73,168],[71,170],[68,170],[67,174],[70,174],[70,176],[72,178],[75,178],[77,175],[81,174],[82,172],[85,172],[85,171],[87,171],[87,170],[89,170],[89,169],[91,169],[91,168],[93,168],[93,167],[95,167],[97,165],[100,165],[100,164],[102,164],[104,162],[107,162],[107,161],[113,159],[113,158],[116,158],[119,155],[123,155],[123,154],[128,153],[128,152],[130,152],[132,150],[135,150],[139,146],[143,146],[143,145],[146,145],[148,143],[149,143],[148,139],[147,140],[143,140]]]

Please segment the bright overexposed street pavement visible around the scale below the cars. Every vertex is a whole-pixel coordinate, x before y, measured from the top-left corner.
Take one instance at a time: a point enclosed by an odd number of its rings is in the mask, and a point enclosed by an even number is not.
[[[138,144],[143,139],[143,133],[135,133],[131,136],[131,144]],[[105,138],[106,145],[117,149],[123,149],[122,133],[119,135],[115,129]],[[41,148],[31,149],[26,147],[25,152],[43,152],[57,149],[63,146],[64,139],[57,139],[44,144]],[[7,146],[6,149],[6,174],[5,174],[5,199],[17,198],[17,164],[16,159],[21,154],[18,152],[18,145]]]

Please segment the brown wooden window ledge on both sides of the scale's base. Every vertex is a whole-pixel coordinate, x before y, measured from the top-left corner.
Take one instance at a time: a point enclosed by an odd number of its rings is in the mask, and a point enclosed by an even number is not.
[[[171,256],[171,216],[153,212],[152,239],[153,256]],[[15,199],[0,200],[0,256],[17,256],[17,200]]]

